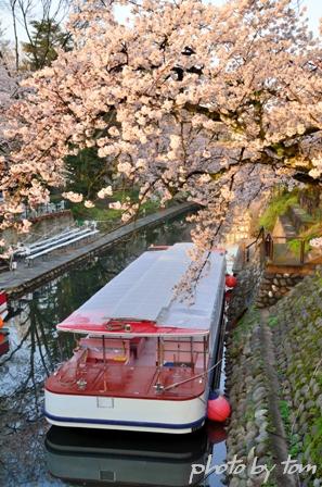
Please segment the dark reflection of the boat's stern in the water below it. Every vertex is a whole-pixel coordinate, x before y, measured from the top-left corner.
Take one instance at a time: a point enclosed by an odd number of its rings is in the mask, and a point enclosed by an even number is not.
[[[189,483],[191,465],[206,465],[212,450],[212,464],[223,461],[224,439],[223,427],[215,425],[184,436],[52,426],[46,437],[46,450],[51,475],[68,483],[183,487],[198,485],[203,479],[194,475]],[[218,478],[199,485],[221,483]]]

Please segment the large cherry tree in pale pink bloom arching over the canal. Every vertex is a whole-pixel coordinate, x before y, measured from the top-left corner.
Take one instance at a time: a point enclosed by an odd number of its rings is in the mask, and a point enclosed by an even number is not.
[[[320,184],[321,45],[292,1],[88,0],[68,28],[74,50],[25,82],[30,95],[8,111],[18,149],[1,175],[2,226],[22,202],[47,202],[65,158],[91,147],[141,187],[124,220],[155,195],[199,202],[199,251],[235,205],[276,183]]]

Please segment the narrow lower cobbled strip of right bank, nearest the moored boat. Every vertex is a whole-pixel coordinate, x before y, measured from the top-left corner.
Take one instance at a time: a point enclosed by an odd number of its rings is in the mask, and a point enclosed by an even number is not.
[[[232,407],[227,439],[227,461],[234,455],[244,465],[252,466],[254,457],[258,464],[272,464],[268,408],[269,389],[261,353],[258,312],[249,311],[231,334],[228,348],[227,391]],[[259,477],[243,471],[229,479],[230,487],[261,485]]]

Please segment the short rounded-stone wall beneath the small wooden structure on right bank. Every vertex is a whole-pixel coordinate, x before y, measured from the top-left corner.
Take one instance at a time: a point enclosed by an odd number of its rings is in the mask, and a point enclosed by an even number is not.
[[[283,296],[287,295],[304,278],[300,274],[278,274],[263,271],[258,296],[257,308],[267,308],[275,304]]]

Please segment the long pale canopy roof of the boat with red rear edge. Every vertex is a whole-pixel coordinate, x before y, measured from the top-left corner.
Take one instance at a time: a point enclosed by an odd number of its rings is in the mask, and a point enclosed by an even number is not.
[[[128,337],[208,334],[221,309],[224,251],[210,253],[190,303],[184,296],[173,299],[173,287],[192,263],[188,254],[192,248],[193,244],[176,244],[144,252],[60,323],[57,329]]]

